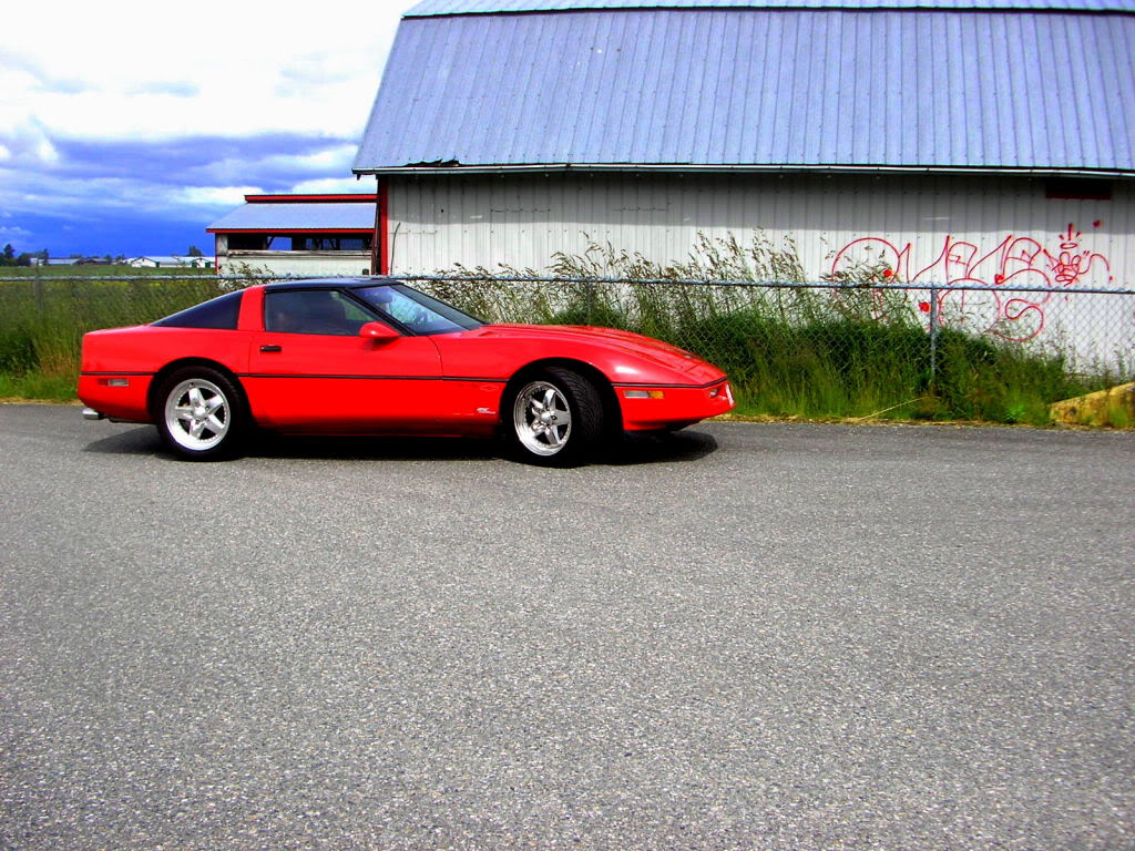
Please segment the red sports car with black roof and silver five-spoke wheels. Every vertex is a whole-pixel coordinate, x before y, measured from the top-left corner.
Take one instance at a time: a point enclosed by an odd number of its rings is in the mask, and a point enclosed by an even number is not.
[[[253,286],[148,326],[83,338],[91,420],[158,426],[185,458],[287,433],[503,433],[520,457],[574,464],[605,437],[733,407],[725,374],[627,331],[486,325],[405,284]]]

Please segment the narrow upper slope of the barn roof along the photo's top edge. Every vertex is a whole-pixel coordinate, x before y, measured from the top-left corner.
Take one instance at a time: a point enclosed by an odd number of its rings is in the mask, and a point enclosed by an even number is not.
[[[1135,0],[422,0],[404,17],[583,9],[1022,9],[1135,11]]]

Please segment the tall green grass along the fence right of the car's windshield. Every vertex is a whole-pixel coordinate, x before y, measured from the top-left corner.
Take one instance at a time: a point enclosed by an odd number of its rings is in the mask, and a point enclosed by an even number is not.
[[[841,272],[832,288],[792,286],[805,281],[796,246],[760,234],[749,244],[699,236],[689,258],[672,264],[592,242],[582,254],[556,254],[541,272],[588,283],[524,289],[490,278],[535,270],[455,273],[465,280],[435,285],[443,297],[489,319],[622,328],[696,352],[730,374],[738,408],[749,414],[1045,424],[1050,403],[1123,379],[1123,370],[1076,371],[1058,347],[951,329],[939,331],[932,374],[931,338],[909,294],[869,288],[884,270]],[[722,280],[783,286],[708,284]]]

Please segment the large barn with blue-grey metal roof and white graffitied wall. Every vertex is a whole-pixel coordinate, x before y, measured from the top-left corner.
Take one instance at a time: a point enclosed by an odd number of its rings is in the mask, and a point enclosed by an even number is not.
[[[759,234],[809,279],[1130,286],[1133,57],[1135,0],[424,0],[353,170],[390,273]]]

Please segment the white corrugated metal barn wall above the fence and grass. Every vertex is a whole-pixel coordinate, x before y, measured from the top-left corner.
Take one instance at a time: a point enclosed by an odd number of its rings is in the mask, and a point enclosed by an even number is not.
[[[1043,179],[958,176],[552,174],[388,185],[394,273],[544,269],[588,238],[666,262],[684,260],[699,233],[748,242],[759,229],[774,243],[794,239],[810,279],[877,255],[907,280],[994,283],[1046,251],[1078,258],[1082,286],[1135,286],[1135,185],[1123,182],[1110,201],[1048,199]],[[1006,267],[1010,250],[1020,262]]]

